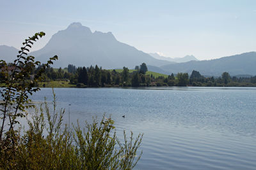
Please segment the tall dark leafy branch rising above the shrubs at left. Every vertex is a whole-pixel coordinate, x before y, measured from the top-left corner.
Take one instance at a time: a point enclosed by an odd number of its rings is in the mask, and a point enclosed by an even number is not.
[[[7,144],[12,141],[15,146],[15,124],[19,124],[17,118],[25,117],[25,108],[34,107],[31,104],[29,95],[40,90],[35,87],[36,83],[41,80],[42,73],[45,69],[53,64],[53,60],[57,60],[58,56],[51,57],[47,63],[42,64],[40,69],[33,74],[36,66],[40,66],[40,61],[36,61],[35,57],[28,55],[33,44],[39,38],[45,36],[44,32],[38,32],[34,36],[25,39],[20,48],[17,59],[12,64],[7,64],[4,60],[0,60],[1,80],[4,84],[0,90],[3,101],[0,103],[0,118],[2,125],[0,127],[0,141]],[[8,121],[8,122],[7,122]],[[4,136],[5,134],[5,136]],[[1,148],[0,148],[1,149]]]

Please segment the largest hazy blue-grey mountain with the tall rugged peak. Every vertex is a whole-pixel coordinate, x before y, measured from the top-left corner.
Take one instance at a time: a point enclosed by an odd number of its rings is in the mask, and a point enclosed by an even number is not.
[[[59,60],[54,67],[90,66],[97,64],[106,69],[115,67],[134,68],[145,62],[147,65],[163,66],[170,64],[166,60],[158,60],[116,40],[111,32],[92,32],[80,23],[72,23],[67,29],[58,31],[42,49],[31,55],[45,62],[49,57],[58,55]]]

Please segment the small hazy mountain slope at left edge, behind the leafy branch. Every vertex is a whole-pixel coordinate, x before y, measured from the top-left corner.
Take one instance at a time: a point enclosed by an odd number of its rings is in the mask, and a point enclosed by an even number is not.
[[[13,62],[16,59],[19,50],[13,46],[0,45],[0,60]]]

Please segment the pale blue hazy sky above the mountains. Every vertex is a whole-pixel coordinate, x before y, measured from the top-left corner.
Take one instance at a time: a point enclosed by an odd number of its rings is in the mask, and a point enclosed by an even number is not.
[[[15,1],[0,0],[0,45],[19,48],[35,32],[46,36],[81,22],[92,31],[168,57],[214,59],[256,51],[256,1]]]

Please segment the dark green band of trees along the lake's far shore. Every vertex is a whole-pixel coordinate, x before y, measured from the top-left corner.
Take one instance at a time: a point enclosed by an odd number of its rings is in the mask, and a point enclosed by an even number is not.
[[[35,69],[40,69],[40,66]],[[99,66],[76,67],[68,64],[65,69],[53,69],[47,67],[43,74],[42,82],[47,81],[69,81],[76,87],[163,87],[163,86],[192,86],[192,87],[243,87],[256,86],[256,76],[230,76],[224,72],[220,77],[205,77],[198,71],[188,73],[177,73],[166,76],[148,74],[147,64],[142,63],[135,66],[132,71],[127,67],[121,70],[102,69]],[[44,83],[42,83],[44,86]]]

